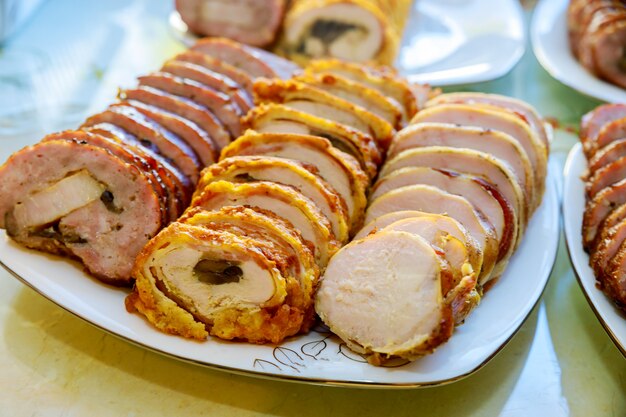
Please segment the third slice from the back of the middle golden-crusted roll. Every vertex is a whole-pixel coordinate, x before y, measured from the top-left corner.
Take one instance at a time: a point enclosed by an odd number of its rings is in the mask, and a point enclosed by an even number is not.
[[[254,84],[254,97],[258,104],[283,103],[287,107],[352,126],[373,136],[383,151],[389,147],[395,133],[393,126],[363,107],[301,82],[258,80]]]

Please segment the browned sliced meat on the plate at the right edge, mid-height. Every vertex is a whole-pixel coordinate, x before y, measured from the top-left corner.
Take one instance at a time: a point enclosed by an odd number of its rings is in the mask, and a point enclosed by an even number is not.
[[[605,104],[583,116],[588,160],[583,247],[604,293],[626,309],[626,105]]]

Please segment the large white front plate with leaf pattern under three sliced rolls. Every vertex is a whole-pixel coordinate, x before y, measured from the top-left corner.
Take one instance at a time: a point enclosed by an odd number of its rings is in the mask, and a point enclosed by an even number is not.
[[[522,325],[539,300],[556,256],[559,204],[555,172],[543,204],[509,268],[452,339],[434,354],[386,368],[365,363],[318,328],[280,346],[210,339],[199,343],[163,334],[124,308],[127,291],[105,286],[66,259],[24,249],[0,234],[0,263],[44,297],[130,342],[197,364],[254,374],[341,385],[426,386],[452,382],[489,361]]]

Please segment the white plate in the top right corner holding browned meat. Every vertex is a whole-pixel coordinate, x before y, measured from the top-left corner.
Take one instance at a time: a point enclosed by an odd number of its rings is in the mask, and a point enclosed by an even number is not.
[[[554,78],[583,94],[608,102],[626,102],[626,90],[602,81],[576,60],[567,35],[569,0],[541,0],[531,25],[537,59]]]

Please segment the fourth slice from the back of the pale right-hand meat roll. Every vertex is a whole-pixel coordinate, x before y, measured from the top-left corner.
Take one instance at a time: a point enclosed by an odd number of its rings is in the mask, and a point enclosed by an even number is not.
[[[471,149],[447,148],[431,146],[428,148],[410,149],[400,153],[388,161],[382,171],[381,178],[391,172],[407,167],[430,167],[460,173],[467,173],[484,178],[500,192],[504,199],[513,207],[518,219],[518,238],[526,227],[524,214],[524,197],[515,175],[499,159],[491,155]]]

